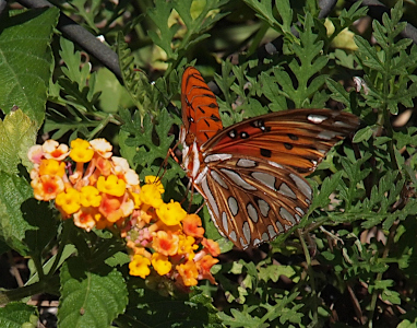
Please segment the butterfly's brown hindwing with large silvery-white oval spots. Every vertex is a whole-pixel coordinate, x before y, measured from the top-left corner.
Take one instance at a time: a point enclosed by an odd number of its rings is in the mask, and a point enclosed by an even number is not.
[[[218,230],[236,246],[272,241],[301,220],[312,197],[305,178],[263,159],[223,155],[206,159],[201,188]]]

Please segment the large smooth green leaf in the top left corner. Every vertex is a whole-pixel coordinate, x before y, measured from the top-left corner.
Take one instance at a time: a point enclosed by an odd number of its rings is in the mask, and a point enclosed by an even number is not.
[[[44,121],[47,86],[51,77],[50,38],[59,10],[31,10],[0,23],[0,108],[13,106],[35,120]]]

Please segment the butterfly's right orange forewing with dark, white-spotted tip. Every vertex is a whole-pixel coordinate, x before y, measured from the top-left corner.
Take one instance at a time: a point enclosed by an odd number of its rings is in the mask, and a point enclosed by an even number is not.
[[[329,109],[271,113],[224,129],[202,151],[263,157],[308,175],[358,125],[356,116]]]

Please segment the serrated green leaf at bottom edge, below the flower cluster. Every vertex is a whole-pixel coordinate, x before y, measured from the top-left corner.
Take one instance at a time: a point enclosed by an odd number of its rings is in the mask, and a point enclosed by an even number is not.
[[[108,266],[91,270],[74,257],[62,266],[60,279],[59,327],[109,327],[128,304],[121,273]]]

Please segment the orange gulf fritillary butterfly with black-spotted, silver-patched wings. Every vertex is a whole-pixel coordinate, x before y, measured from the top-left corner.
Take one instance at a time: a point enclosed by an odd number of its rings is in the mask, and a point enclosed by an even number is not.
[[[347,113],[291,109],[223,129],[216,97],[193,67],[182,75],[181,104],[182,167],[218,231],[243,249],[300,222],[312,198],[305,176],[359,126]]]

